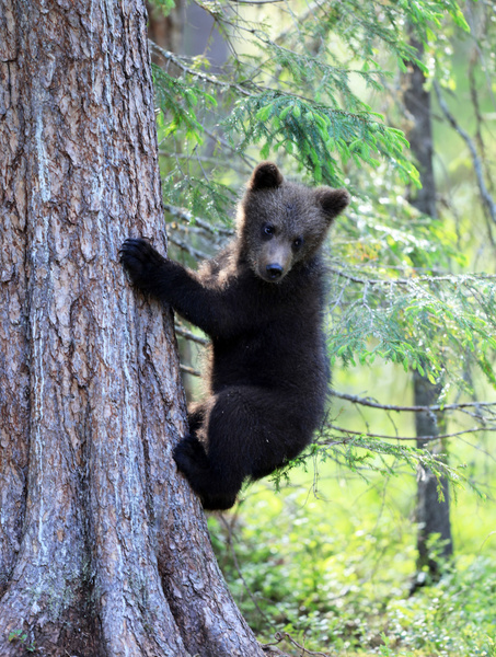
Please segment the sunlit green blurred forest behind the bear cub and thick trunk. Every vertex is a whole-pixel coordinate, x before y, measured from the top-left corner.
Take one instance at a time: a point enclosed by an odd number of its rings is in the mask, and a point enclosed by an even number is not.
[[[170,256],[232,234],[254,164],[346,186],[315,445],[212,516],[258,638],[288,655],[496,655],[496,5],[149,5]],[[201,394],[206,341],[177,325]]]

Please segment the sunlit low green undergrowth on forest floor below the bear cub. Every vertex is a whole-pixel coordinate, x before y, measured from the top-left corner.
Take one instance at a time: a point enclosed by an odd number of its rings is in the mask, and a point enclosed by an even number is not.
[[[360,493],[355,484],[334,482],[326,502],[304,486],[275,494],[258,484],[246,493],[237,514],[212,516],[209,525],[230,589],[262,643],[288,633],[325,655],[496,655],[491,530],[485,542],[482,530],[477,553],[463,551],[470,542],[459,537],[462,551],[440,581],[412,592],[411,491],[392,488],[384,497],[380,485]],[[431,549],[438,549],[435,541]],[[278,647],[311,654],[288,641]]]

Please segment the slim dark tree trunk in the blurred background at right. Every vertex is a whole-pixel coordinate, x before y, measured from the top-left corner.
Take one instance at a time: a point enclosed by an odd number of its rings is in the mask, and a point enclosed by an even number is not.
[[[420,44],[412,42],[417,51],[422,53]],[[420,212],[435,218],[436,183],[432,168],[432,130],[430,116],[430,92],[425,89],[425,76],[418,66],[412,65],[407,76],[407,87],[404,92],[405,108],[413,120],[408,139],[412,152],[417,161],[420,173],[422,189],[415,197],[410,198]],[[427,377],[414,372],[414,403],[418,406],[429,406],[437,403],[440,388],[430,383]],[[416,415],[417,447],[426,447],[425,436],[439,436],[442,414],[417,413]],[[430,447],[432,443],[430,443]],[[440,445],[437,452],[446,452],[446,446]],[[423,471],[418,476],[417,488],[417,549],[418,570],[425,566],[434,578],[439,576],[439,563],[432,558],[429,551],[429,538],[438,534],[442,541],[441,555],[448,557],[453,553],[450,525],[449,487],[445,477],[440,481],[443,499],[439,498],[438,482],[430,471]]]

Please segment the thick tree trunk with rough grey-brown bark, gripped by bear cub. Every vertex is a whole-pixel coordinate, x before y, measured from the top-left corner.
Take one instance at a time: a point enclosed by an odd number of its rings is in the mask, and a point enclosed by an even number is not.
[[[0,0],[0,654],[261,655],[177,474],[142,0]]]

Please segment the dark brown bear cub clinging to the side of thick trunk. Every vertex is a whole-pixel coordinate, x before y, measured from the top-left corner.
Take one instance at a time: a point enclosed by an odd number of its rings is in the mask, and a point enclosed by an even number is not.
[[[206,509],[230,508],[246,479],[295,459],[320,426],[328,385],[320,250],[346,189],[309,188],[263,162],[238,210],[235,239],[198,272],[129,239],[134,285],[211,337],[209,396],[174,450]]]

